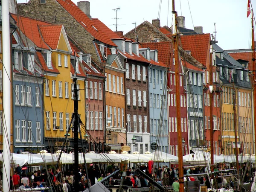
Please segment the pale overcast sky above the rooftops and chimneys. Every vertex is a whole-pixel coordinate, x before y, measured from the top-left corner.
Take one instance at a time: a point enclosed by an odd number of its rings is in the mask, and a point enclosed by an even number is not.
[[[18,3],[27,1],[17,0]],[[73,1],[77,4],[79,0]],[[119,18],[117,29],[124,34],[135,27],[132,23],[136,22],[136,25],[139,25],[144,20],[152,22],[152,19],[157,17],[161,26],[172,25],[172,0],[161,0],[161,6],[160,0],[89,1],[90,15],[99,18],[113,31],[116,30],[114,25],[116,12],[112,9],[116,8],[120,8],[117,12]],[[251,1],[253,7],[256,6],[256,0]],[[216,23],[216,40],[222,49],[247,49],[251,46],[251,19],[247,18],[247,2],[247,0],[175,0],[175,9],[178,16],[185,17],[185,26],[188,29],[202,26],[204,33],[212,34]]]

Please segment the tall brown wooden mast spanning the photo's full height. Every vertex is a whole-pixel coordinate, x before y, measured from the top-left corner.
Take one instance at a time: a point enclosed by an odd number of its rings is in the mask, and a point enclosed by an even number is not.
[[[180,73],[179,73],[179,49],[178,49],[178,34],[177,34],[177,12],[175,11],[175,0],[172,0],[172,43],[174,46],[174,64],[175,64],[175,91],[176,91],[176,113],[177,113],[177,134],[178,134],[178,157],[179,157],[179,183],[180,192],[184,192],[183,178],[183,148],[181,135],[181,110],[180,110]]]

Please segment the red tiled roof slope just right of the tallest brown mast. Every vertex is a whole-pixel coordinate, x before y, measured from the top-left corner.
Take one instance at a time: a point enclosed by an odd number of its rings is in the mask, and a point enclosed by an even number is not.
[[[210,48],[210,34],[182,35],[180,36],[181,47],[185,51],[191,51],[194,57],[201,64],[206,65],[207,55]]]

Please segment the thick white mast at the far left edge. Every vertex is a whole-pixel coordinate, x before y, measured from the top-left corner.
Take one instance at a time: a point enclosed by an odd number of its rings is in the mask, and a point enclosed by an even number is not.
[[[11,48],[10,48],[9,0],[2,2],[3,39],[3,192],[10,190],[11,162]],[[1,45],[0,45],[1,46]]]

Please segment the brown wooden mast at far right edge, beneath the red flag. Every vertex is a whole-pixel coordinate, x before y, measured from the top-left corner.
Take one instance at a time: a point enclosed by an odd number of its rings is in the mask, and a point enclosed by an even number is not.
[[[256,114],[256,69],[255,69],[255,41],[254,41],[254,25],[253,25],[253,9],[251,9],[252,12],[252,61],[253,61],[253,112],[254,116]],[[254,119],[254,134],[256,134],[256,119]],[[256,140],[256,139],[255,139]],[[254,141],[255,144],[255,150],[256,150],[256,141]]]

